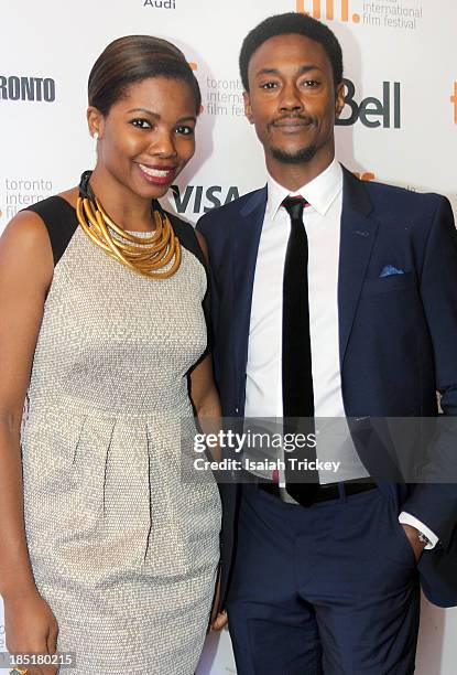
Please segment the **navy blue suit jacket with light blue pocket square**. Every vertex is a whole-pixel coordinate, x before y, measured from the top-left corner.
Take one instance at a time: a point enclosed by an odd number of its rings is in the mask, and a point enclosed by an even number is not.
[[[214,366],[226,417],[242,417],[252,286],[266,188],[204,215],[210,259]],[[385,266],[403,271],[380,277]],[[348,417],[432,417],[436,390],[457,415],[457,234],[449,202],[363,182],[344,170],[338,277],[339,356]],[[457,476],[457,447],[437,442],[431,465]],[[418,458],[423,462],[424,458]],[[370,470],[370,458],[362,458]],[[443,473],[442,473],[443,475]],[[457,484],[382,483],[399,510],[439,536],[420,561],[422,587],[457,604]],[[236,548],[238,489],[222,485],[222,596]]]

